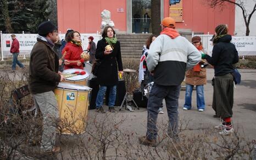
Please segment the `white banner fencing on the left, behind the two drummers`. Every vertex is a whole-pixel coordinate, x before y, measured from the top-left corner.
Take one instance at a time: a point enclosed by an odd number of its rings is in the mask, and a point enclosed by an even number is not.
[[[2,34],[1,35],[1,43],[2,43],[2,52],[1,55],[3,55],[3,58],[7,58],[7,57],[12,57],[12,54],[10,53],[10,46],[12,45],[12,38],[10,37],[11,34]],[[37,35],[38,34],[15,34],[16,35],[16,39],[19,41],[20,44],[20,54],[19,56],[26,56],[29,57],[30,56],[30,52],[33,48],[33,46],[36,44],[37,42]],[[92,36],[93,42],[96,43],[98,40],[101,40],[101,35],[98,34],[81,34],[81,39],[82,39],[82,48],[83,50],[86,50],[88,47],[88,37]],[[65,38],[65,34],[59,34],[59,38],[64,39]],[[2,57],[2,56],[1,56]]]

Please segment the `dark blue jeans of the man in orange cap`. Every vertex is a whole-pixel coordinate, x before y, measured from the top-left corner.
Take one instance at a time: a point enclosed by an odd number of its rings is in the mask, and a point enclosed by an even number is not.
[[[168,134],[175,138],[178,136],[178,106],[180,96],[179,86],[161,86],[154,84],[148,99],[148,122],[147,122],[147,139],[157,139],[157,117],[158,110],[165,99],[166,108],[169,117]]]

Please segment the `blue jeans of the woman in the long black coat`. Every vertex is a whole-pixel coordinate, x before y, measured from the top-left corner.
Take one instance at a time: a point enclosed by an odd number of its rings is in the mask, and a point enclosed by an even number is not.
[[[109,87],[108,106],[114,106],[115,105],[115,97],[116,97],[116,85],[108,86],[108,87]],[[96,108],[100,108],[102,106],[106,91],[107,91],[107,86],[99,87],[99,91],[98,91],[97,98],[96,98]]]

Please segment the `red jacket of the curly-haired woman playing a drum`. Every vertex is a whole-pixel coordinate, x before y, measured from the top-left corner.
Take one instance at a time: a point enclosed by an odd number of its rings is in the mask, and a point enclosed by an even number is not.
[[[62,55],[64,54],[65,50],[68,49],[66,52],[64,59],[68,61],[80,61],[82,58],[80,57],[82,51],[82,48],[73,44],[73,43],[66,43],[64,49],[62,50]],[[64,69],[70,69],[70,68],[79,68],[83,69],[83,66],[77,66],[77,62],[70,63],[68,65],[64,66]]]

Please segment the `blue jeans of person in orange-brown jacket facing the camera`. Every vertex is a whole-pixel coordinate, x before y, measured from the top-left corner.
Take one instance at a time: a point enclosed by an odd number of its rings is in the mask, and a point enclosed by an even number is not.
[[[191,99],[192,99],[192,91],[193,91],[193,85],[187,84],[186,85],[186,95],[185,95],[185,104],[184,107],[187,109],[191,109]],[[197,85],[197,109],[204,109],[205,103],[204,103],[204,86],[203,85]]]

